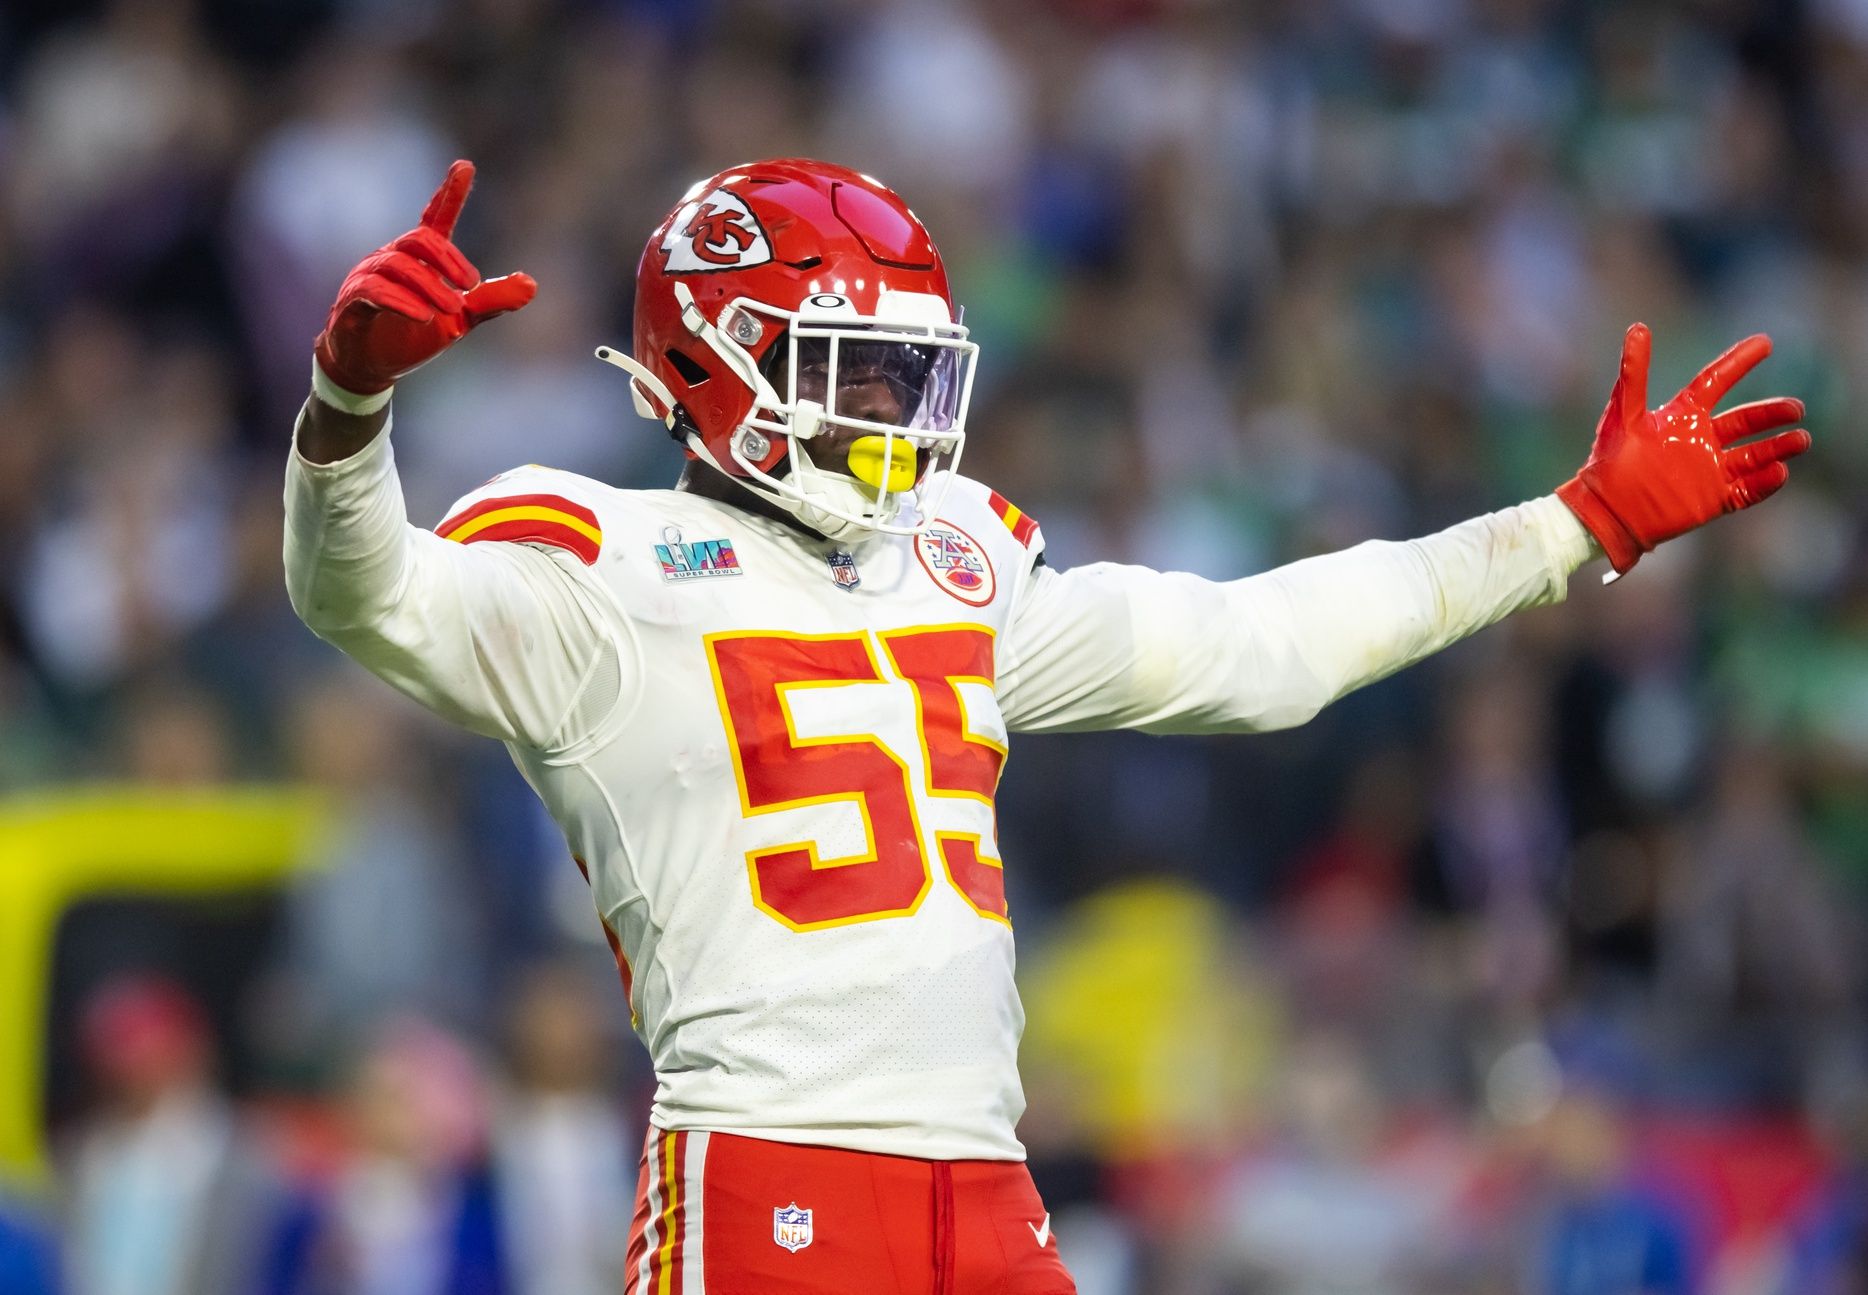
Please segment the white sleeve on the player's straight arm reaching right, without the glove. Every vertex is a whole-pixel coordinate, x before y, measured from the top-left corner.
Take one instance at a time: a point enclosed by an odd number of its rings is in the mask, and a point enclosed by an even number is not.
[[[1562,602],[1593,555],[1547,495],[1229,583],[1039,566],[1001,647],[999,706],[1020,733],[1287,729],[1511,611]]]

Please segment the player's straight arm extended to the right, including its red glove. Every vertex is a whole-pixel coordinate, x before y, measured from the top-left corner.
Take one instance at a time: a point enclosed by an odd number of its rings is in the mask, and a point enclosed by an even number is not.
[[[1655,544],[1782,488],[1784,460],[1808,448],[1808,434],[1747,437],[1801,419],[1803,404],[1711,413],[1769,340],[1739,342],[1655,411],[1646,407],[1649,346],[1644,325],[1629,329],[1590,460],[1554,497],[1229,583],[1040,566],[1001,648],[1007,725],[1224,733],[1304,723],[1521,607],[1560,602],[1592,555],[1625,572]]]

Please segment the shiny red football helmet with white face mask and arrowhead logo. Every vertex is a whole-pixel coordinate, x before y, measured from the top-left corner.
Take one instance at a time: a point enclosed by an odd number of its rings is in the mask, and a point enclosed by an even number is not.
[[[839,538],[934,519],[923,495],[958,467],[977,349],[915,213],[785,157],[687,191],[635,273],[635,357],[598,357],[628,370],[637,413]],[[811,460],[826,434],[848,441],[839,471]]]

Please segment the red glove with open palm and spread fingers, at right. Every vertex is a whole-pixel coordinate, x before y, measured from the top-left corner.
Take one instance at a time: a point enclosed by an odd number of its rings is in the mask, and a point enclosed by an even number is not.
[[[1803,419],[1801,400],[1778,396],[1713,413],[1713,406],[1771,353],[1771,338],[1762,333],[1745,338],[1659,409],[1648,407],[1651,349],[1648,325],[1631,327],[1621,342],[1621,376],[1595,426],[1590,462],[1556,488],[1558,499],[1608,553],[1616,574],[1663,540],[1769,499],[1790,480],[1784,460],[1810,448],[1810,434],[1803,428],[1737,445]]]

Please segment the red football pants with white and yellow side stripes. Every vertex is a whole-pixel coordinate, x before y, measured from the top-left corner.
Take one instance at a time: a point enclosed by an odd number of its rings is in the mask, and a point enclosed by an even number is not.
[[[626,1295],[1076,1295],[1018,1160],[648,1131]]]

